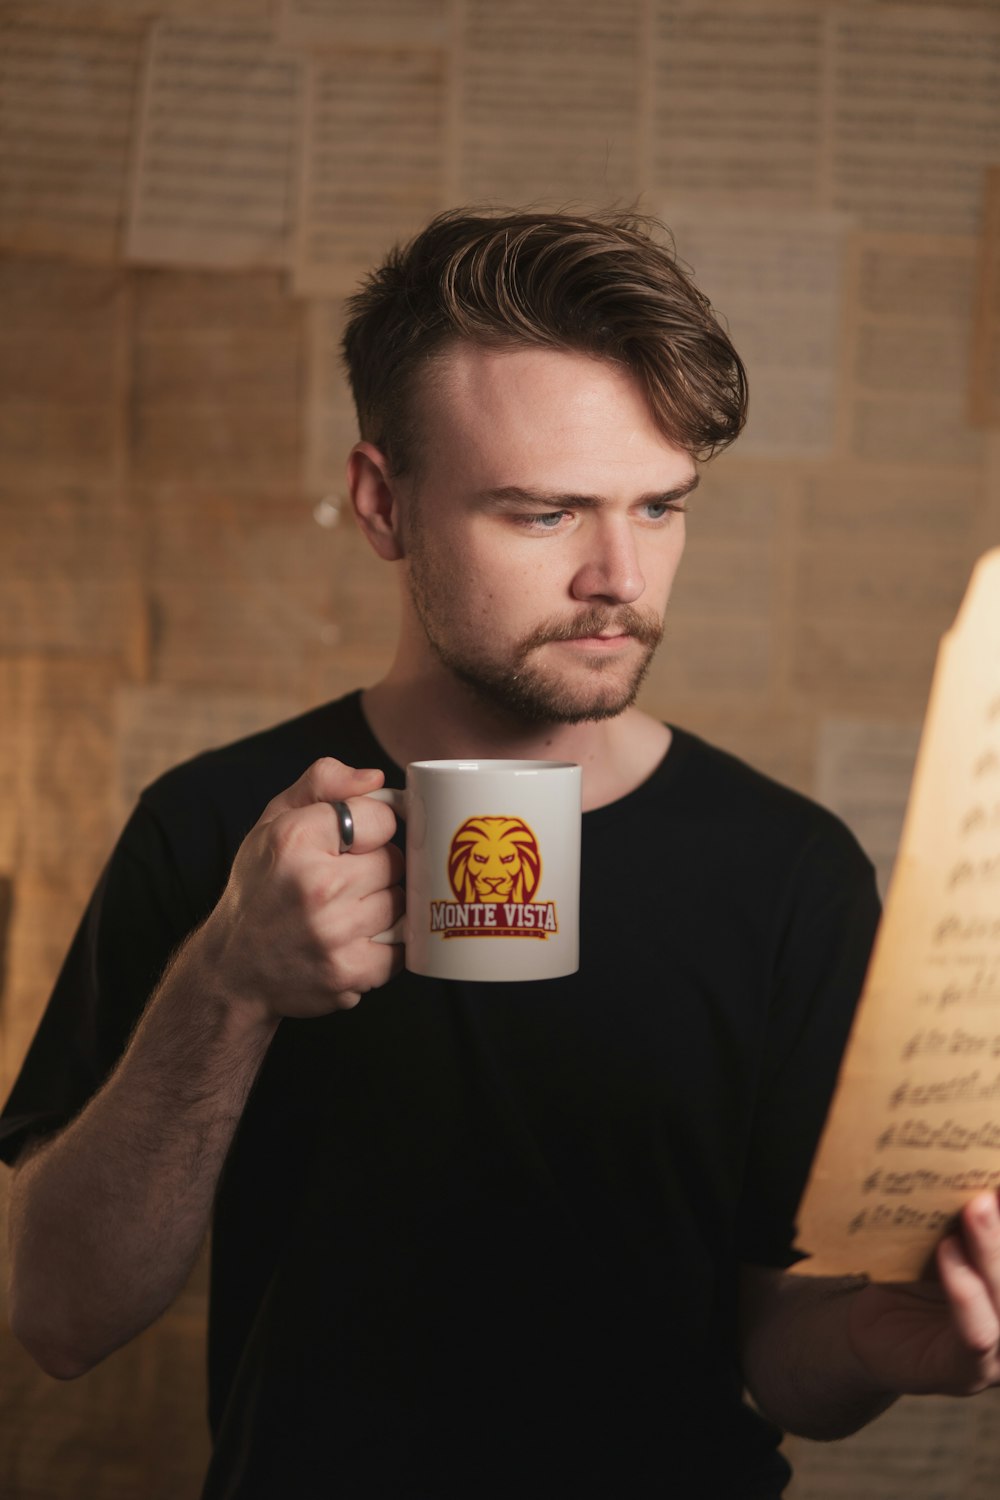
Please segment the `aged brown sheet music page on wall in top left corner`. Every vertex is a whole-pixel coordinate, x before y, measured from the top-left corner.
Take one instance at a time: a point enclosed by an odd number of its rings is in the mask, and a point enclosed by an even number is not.
[[[124,16],[0,10],[0,248],[117,260],[139,48]]]

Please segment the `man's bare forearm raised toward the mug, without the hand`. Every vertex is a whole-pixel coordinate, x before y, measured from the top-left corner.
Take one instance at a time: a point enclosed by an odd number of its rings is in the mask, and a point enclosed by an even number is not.
[[[219,990],[196,934],[105,1088],[18,1168],[10,1323],[51,1374],[90,1368],[181,1288],[273,1032]]]

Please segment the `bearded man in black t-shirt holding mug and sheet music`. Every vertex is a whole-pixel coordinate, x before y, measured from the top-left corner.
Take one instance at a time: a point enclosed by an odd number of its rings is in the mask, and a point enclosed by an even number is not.
[[[973,1200],[940,1287],[783,1270],[871,867],[633,706],[742,368],[621,216],[445,214],[345,350],[396,660],[142,795],[7,1104],[15,1332],[88,1368],[211,1218],[207,1497],[777,1497],[768,1419],[1000,1377],[1000,1221]],[[372,942],[403,866],[364,794],[481,754],[583,766],[573,978]]]

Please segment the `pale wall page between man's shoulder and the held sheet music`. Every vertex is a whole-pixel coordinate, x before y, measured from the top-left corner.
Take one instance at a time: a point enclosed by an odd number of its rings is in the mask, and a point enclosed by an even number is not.
[[[883,897],[900,848],[919,740],[916,723],[826,718],[820,724],[816,796],[858,837],[876,867]]]

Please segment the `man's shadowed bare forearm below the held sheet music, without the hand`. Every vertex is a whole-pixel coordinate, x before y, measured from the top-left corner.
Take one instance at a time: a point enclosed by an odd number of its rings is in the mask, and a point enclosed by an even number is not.
[[[768,1314],[744,1320],[744,1378],[763,1412],[799,1437],[847,1437],[880,1416],[895,1394],[880,1388],[849,1338],[858,1280],[786,1276]]]

